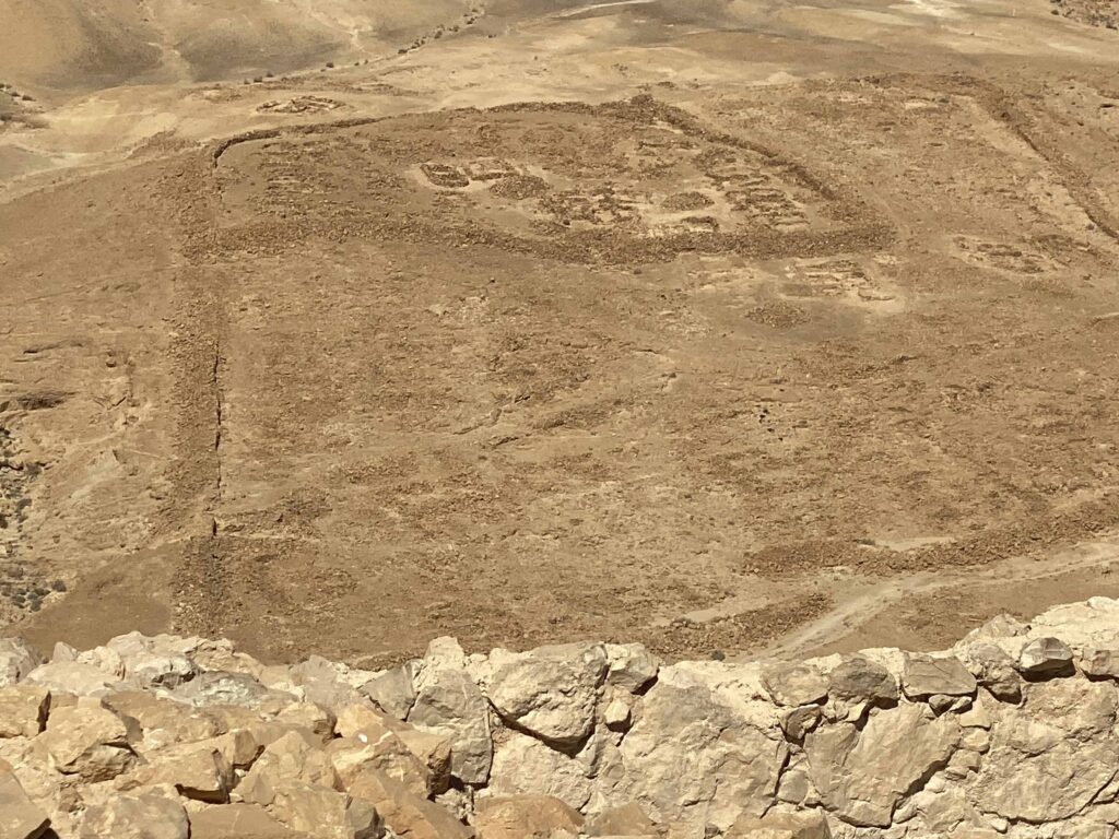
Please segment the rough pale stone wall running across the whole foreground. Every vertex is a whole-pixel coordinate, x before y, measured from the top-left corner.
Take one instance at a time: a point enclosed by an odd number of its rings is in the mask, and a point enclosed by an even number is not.
[[[943,653],[638,644],[369,672],[227,641],[0,641],[0,839],[1044,837],[1119,823],[1119,601]]]

